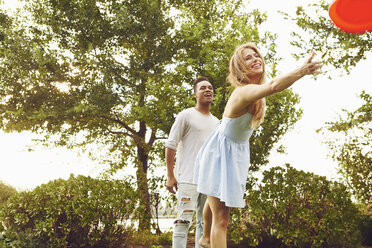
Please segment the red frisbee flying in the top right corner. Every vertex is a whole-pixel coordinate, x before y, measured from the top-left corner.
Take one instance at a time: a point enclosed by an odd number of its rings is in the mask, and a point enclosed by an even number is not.
[[[335,0],[328,12],[333,23],[345,32],[372,31],[372,0]]]

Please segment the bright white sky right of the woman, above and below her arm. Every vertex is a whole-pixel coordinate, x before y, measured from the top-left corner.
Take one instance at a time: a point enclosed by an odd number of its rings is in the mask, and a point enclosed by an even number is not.
[[[333,0],[329,0],[331,4]],[[290,33],[297,27],[295,24],[283,20],[278,10],[287,13],[295,13],[296,6],[314,3],[313,0],[251,0],[252,8],[258,8],[261,12],[266,11],[268,21],[264,29],[277,33],[276,41],[278,55],[284,58],[279,62],[278,69],[288,72],[301,65],[302,61],[296,61],[291,57],[293,48],[290,46],[292,40]],[[306,10],[305,10],[306,11]],[[305,58],[304,58],[305,59]],[[315,56],[315,60],[317,57]],[[351,70],[350,75],[339,76],[338,72],[331,73],[333,79],[319,76],[314,81],[307,76],[296,82],[292,89],[301,97],[299,106],[303,109],[303,116],[293,130],[288,132],[279,144],[283,144],[286,154],[275,152],[270,156],[270,164],[266,167],[280,166],[290,163],[296,169],[314,172],[326,176],[330,180],[338,180],[337,164],[329,158],[330,151],[323,144],[325,140],[316,130],[325,126],[326,122],[332,122],[342,115],[342,109],[356,110],[363,102],[358,97],[363,90],[372,94],[372,77],[370,68],[372,65],[372,53],[367,60],[361,61]]]

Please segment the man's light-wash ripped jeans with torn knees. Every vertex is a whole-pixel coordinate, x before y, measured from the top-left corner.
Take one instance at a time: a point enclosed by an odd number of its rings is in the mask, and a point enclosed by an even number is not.
[[[196,212],[195,247],[200,248],[199,239],[203,235],[203,208],[206,195],[196,191],[195,184],[179,183],[177,192],[177,219],[174,223],[172,247],[186,248],[187,234]],[[177,223],[177,222],[182,223]]]

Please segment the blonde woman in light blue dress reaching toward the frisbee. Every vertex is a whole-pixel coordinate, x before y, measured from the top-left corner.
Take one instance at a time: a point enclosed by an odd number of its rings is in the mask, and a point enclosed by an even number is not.
[[[265,63],[253,43],[238,46],[230,60],[228,81],[235,87],[220,126],[196,159],[194,181],[208,196],[204,207],[202,247],[226,247],[229,211],[244,207],[249,169],[249,138],[265,116],[265,97],[290,87],[305,75],[320,73],[314,53],[296,70],[265,81]]]

